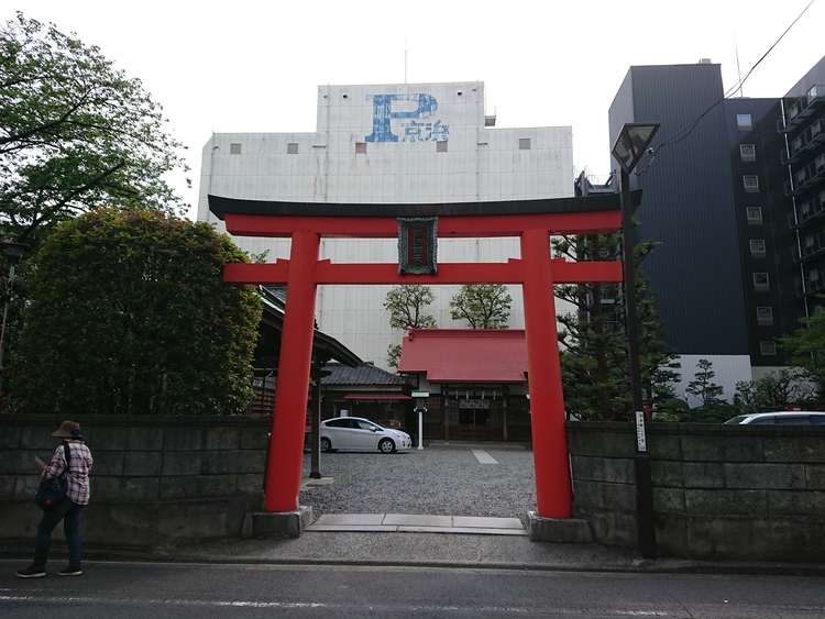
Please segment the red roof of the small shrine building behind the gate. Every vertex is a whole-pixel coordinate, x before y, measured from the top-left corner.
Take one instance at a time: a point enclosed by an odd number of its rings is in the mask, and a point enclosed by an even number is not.
[[[398,372],[430,383],[526,383],[524,329],[410,329]]]

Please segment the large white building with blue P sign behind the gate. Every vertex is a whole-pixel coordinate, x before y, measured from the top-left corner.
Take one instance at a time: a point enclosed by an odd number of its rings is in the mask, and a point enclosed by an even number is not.
[[[319,86],[315,133],[220,133],[204,147],[198,219],[208,195],[250,200],[340,203],[487,202],[573,196],[572,129],[495,128],[484,110],[484,84]],[[237,237],[245,251],[288,257],[289,241]],[[438,262],[506,262],[517,239],[439,240]],[[336,263],[397,262],[395,241],[324,239]],[[411,281],[415,283],[415,281]],[[391,344],[386,286],[322,286],[318,327],[359,356],[386,367]],[[455,286],[435,289],[440,328],[462,328],[449,302]],[[510,327],[524,328],[520,287]],[[559,306],[559,311],[564,308]]]

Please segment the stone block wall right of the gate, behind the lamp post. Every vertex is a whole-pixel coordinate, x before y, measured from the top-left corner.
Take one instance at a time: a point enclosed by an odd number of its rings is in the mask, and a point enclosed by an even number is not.
[[[573,516],[637,545],[635,427],[569,422]],[[825,427],[648,425],[660,556],[825,561]]]

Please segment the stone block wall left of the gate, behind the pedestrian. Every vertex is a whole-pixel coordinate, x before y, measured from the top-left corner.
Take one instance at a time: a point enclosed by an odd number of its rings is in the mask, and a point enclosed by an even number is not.
[[[0,540],[31,545],[41,511],[34,457],[48,462],[57,416],[0,416]],[[268,417],[82,417],[95,457],[84,542],[153,548],[240,537],[260,510]]]

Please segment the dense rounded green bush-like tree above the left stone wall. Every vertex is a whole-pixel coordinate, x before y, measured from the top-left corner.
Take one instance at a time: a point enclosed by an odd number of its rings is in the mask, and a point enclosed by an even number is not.
[[[238,414],[251,396],[261,298],[223,283],[249,262],[206,222],[101,209],[58,225],[30,279],[12,410]]]

